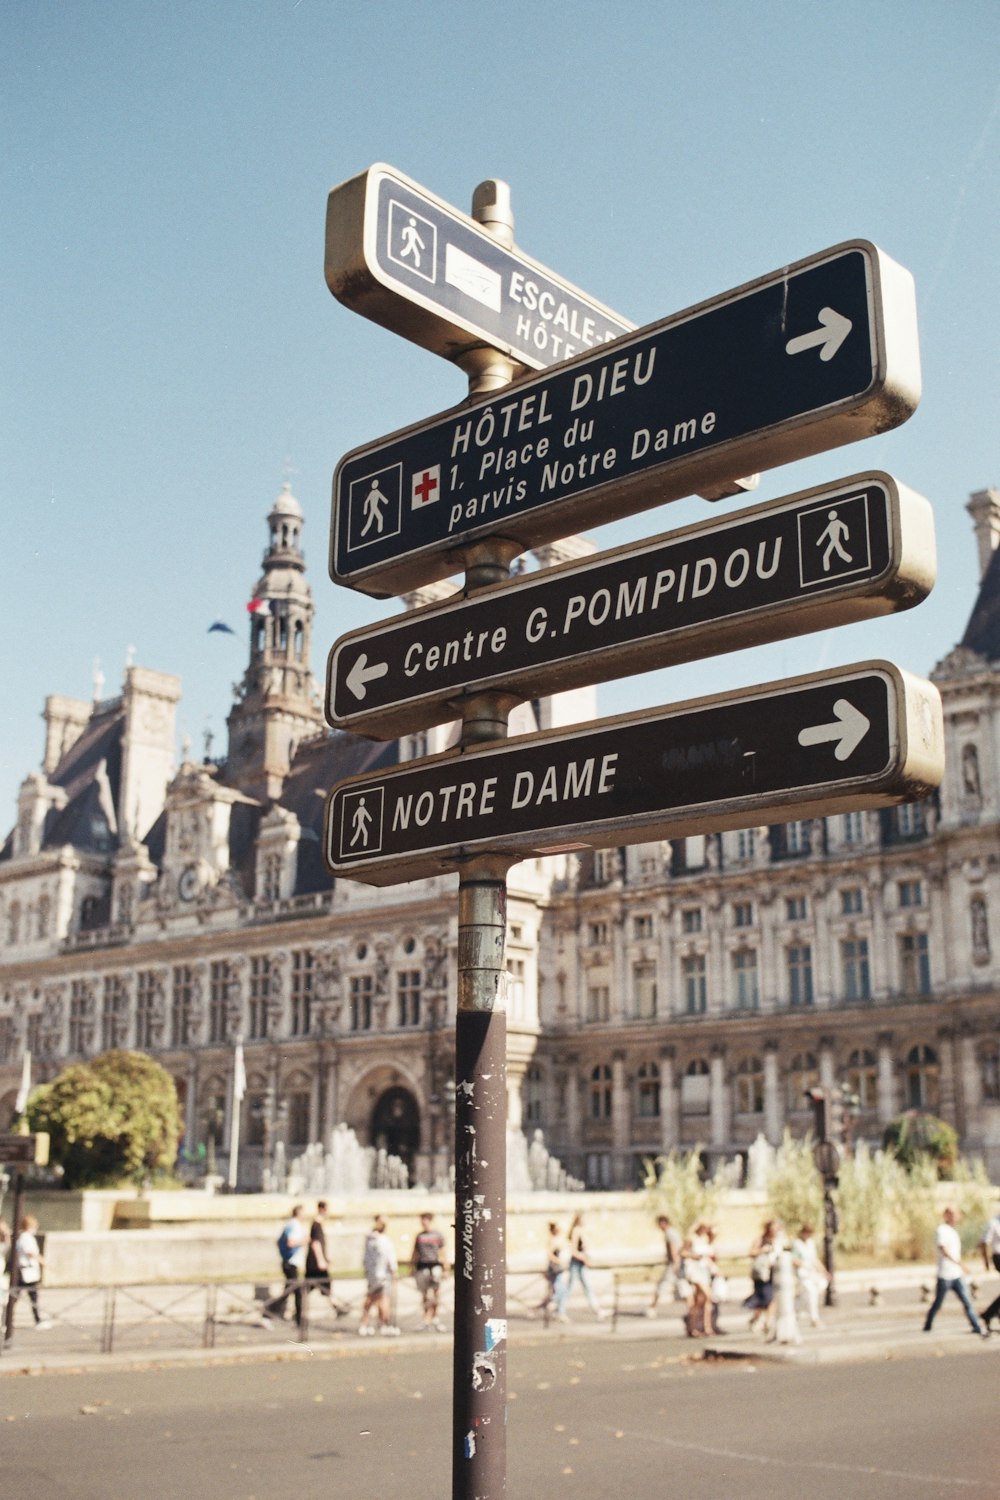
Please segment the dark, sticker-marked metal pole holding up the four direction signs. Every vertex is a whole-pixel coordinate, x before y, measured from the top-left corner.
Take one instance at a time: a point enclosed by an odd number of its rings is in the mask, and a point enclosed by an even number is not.
[[[480,183],[472,216],[505,246],[514,242],[507,183]],[[516,366],[477,351],[469,394],[510,384]],[[510,574],[516,549],[486,542],[466,564],[466,588]],[[507,738],[511,699],[469,698],[462,747]],[[451,1496],[507,1494],[507,870],[478,858],[459,876],[459,990],[454,1023],[454,1353]]]

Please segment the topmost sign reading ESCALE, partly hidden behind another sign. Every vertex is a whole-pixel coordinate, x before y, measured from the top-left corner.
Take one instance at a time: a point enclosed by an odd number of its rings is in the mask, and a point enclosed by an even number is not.
[[[636,327],[382,164],[330,194],[325,272],[337,302],[448,360],[486,344],[541,370]]]

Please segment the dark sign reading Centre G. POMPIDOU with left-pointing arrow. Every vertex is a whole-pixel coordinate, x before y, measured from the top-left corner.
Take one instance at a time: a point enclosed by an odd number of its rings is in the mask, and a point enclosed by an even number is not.
[[[934,560],[930,504],[855,474],[354,630],[330,652],[327,717],[390,740],[468,693],[523,702],[909,609]]]

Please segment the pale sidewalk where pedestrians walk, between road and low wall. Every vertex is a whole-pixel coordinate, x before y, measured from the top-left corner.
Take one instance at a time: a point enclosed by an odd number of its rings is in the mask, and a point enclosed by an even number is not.
[[[768,1342],[748,1330],[748,1314],[741,1305],[742,1284],[738,1281],[733,1299],[721,1311],[726,1334],[709,1338],[687,1338],[682,1308],[661,1304],[655,1317],[648,1316],[649,1298],[637,1293],[619,1308],[616,1326],[610,1317],[598,1320],[582,1299],[568,1305],[568,1323],[546,1326],[534,1311],[541,1278],[511,1276],[508,1286],[508,1338],[511,1346],[526,1342],[615,1342],[657,1344],[670,1359],[739,1359],[753,1364],[826,1364],[868,1359],[904,1359],[939,1353],[979,1353],[1000,1356],[1000,1334],[990,1340],[973,1338],[964,1312],[955,1298],[949,1298],[937,1316],[931,1334],[922,1332],[934,1270],[930,1266],[892,1268],[879,1272],[844,1272],[838,1275],[838,1305],[823,1310],[822,1328],[813,1329],[799,1320],[798,1342]],[[345,1284],[339,1284],[342,1290]],[[358,1287],[358,1284],[354,1284]],[[879,1287],[873,1305],[871,1287]],[[924,1288],[924,1292],[922,1292]],[[126,1288],[120,1288],[126,1290]],[[139,1292],[144,1290],[144,1296]],[[214,1293],[211,1302],[211,1338],[204,1342],[205,1290]],[[358,1287],[360,1290],[360,1287]],[[610,1275],[597,1282],[606,1310],[612,1306]],[[315,1359],[369,1356],[403,1347],[450,1346],[451,1342],[451,1282],[445,1284],[442,1317],[445,1332],[421,1332],[420,1298],[412,1281],[403,1278],[397,1288],[396,1320],[399,1338],[358,1338],[357,1300],[345,1318],[334,1318],[313,1294],[309,1336],[298,1341],[298,1330],[289,1320],[265,1328],[255,1302],[240,1296],[240,1288],[226,1287],[156,1287],[127,1288],[129,1314],[118,1314],[115,1347],[102,1353],[102,1317],[99,1299],[108,1288],[52,1292],[45,1311],[52,1328],[36,1332],[27,1305],[18,1306],[15,1336],[0,1358],[0,1377],[37,1374],[43,1371],[123,1370],[163,1364],[243,1362],[267,1359]],[[996,1278],[981,1281],[976,1305],[982,1306],[996,1294]]]

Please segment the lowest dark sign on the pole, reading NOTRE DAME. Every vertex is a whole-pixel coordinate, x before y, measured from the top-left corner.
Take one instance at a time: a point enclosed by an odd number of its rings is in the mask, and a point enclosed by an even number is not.
[[[943,764],[937,688],[868,662],[352,777],[327,802],[327,866],[394,885],[483,855],[883,807]]]

